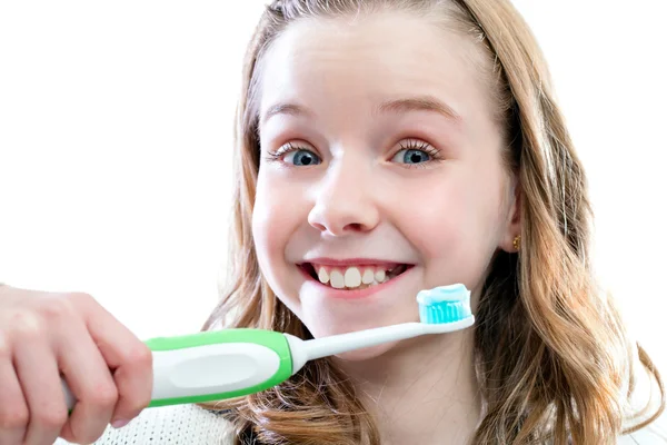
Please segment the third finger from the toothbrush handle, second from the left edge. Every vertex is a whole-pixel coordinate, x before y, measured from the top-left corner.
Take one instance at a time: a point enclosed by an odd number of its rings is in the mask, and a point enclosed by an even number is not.
[[[34,334],[40,335],[38,330]],[[24,444],[52,444],[67,421],[67,407],[49,343],[43,337],[23,336],[14,353],[14,368],[30,413]]]

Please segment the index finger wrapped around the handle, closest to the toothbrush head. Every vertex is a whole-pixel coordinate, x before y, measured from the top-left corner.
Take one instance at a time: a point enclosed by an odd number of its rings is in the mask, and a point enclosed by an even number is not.
[[[88,329],[104,360],[113,369],[118,404],[112,421],[130,421],[151,399],[152,353],[148,346],[98,305],[84,305]]]

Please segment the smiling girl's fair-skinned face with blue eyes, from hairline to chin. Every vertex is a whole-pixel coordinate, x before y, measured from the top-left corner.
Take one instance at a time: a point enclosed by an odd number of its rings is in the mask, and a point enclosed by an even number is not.
[[[303,20],[266,53],[252,231],[315,337],[416,322],[417,293],[441,285],[465,284],[475,307],[494,253],[511,249],[514,186],[479,67],[474,42],[401,13]]]

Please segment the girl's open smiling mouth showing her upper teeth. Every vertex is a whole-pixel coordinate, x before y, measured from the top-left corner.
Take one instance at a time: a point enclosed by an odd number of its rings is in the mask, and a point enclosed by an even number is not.
[[[298,265],[320,284],[345,290],[357,290],[387,283],[414,267],[409,264],[368,266],[327,266],[312,263]]]

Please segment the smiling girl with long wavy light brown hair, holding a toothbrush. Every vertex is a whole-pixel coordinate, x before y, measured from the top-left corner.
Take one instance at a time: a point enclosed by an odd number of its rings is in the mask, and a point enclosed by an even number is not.
[[[100,443],[613,444],[661,413],[658,372],[594,280],[585,174],[508,1],[273,1],[237,138],[235,267],[205,329],[411,322],[418,290],[452,283],[471,289],[476,325],[316,360],[239,399],[148,409]],[[0,442],[92,441],[146,406],[150,355],[94,300],[1,295],[21,316],[0,324]],[[66,325],[86,346],[34,339],[73,344]],[[67,423],[59,367],[79,398]],[[660,399],[637,412],[641,368]]]

